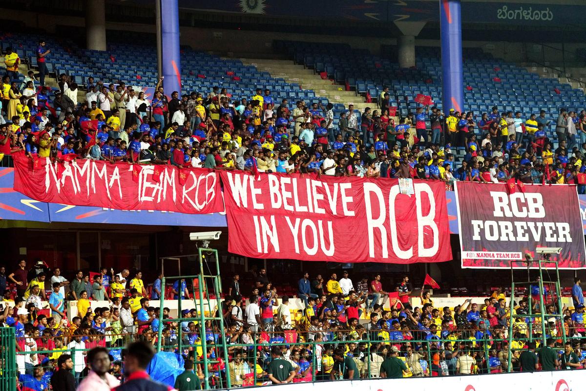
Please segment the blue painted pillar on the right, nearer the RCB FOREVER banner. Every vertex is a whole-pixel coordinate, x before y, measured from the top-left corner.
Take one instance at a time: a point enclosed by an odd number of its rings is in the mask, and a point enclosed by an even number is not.
[[[464,75],[462,74],[462,19],[460,0],[440,0],[442,104],[444,113],[450,108],[464,108]]]

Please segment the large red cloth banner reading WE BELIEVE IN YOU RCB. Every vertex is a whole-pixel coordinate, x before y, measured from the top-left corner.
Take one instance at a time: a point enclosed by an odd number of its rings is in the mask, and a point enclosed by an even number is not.
[[[255,258],[415,263],[452,259],[445,184],[220,172],[228,250]]]

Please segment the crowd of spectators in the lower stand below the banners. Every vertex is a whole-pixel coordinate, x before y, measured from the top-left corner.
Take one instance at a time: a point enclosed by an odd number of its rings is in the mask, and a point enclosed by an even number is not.
[[[15,328],[16,363],[25,385],[48,385],[54,369],[63,364],[59,360],[63,355],[73,358],[76,381],[87,378],[87,362],[91,361],[87,351],[96,347],[107,348],[113,362],[110,372],[122,379],[124,346],[132,341],[158,346],[159,329],[161,349],[193,360],[194,373],[202,382],[206,373],[203,355],[214,361],[207,368],[213,387],[225,386],[227,373],[232,385],[246,386],[254,385],[254,381],[264,384],[498,373],[509,370],[509,359],[513,371],[578,369],[586,365],[580,278],[572,288],[573,304],[561,308],[561,318],[556,317],[557,300],[553,300],[551,290],[546,290],[547,346],[541,346],[541,317],[529,317],[540,311],[537,284],[513,306],[513,314],[528,316],[511,317],[501,288],[483,303],[462,299],[462,304],[454,308],[437,308],[429,291],[421,288],[414,292],[408,276],[393,286],[381,281],[380,274],[370,281],[352,281],[347,270],[339,280],[336,273],[327,280],[319,274],[311,278],[305,273],[297,284],[301,300],[298,308],[291,305],[294,297],[281,295],[261,269],[251,285],[244,287],[237,274],[226,284],[229,289],[224,300],[208,314],[223,319],[222,334],[220,321],[206,321],[202,330],[196,308],[183,310],[183,321],[166,321],[173,318],[169,308],[163,308],[160,317],[159,308],[153,305],[161,295],[192,297],[188,281],[162,287],[162,274],[158,274],[152,285],[145,285],[141,271],[115,274],[107,268],[67,277],[42,261],[30,270],[25,260],[12,272],[0,267],[0,295],[4,299],[0,326]],[[416,296],[421,307],[411,304]],[[67,314],[70,300],[73,314]],[[95,301],[104,306],[91,305]],[[224,361],[223,342],[228,362]],[[279,361],[277,366],[277,360],[287,364],[281,366]],[[60,389],[53,386],[53,390]]]

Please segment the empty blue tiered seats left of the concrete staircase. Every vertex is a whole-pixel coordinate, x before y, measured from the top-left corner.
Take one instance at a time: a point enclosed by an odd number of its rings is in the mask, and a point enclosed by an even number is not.
[[[49,72],[65,73],[82,88],[87,83],[88,76],[103,80],[105,84],[120,80],[127,84],[154,87],[157,82],[154,46],[114,43],[108,46],[106,52],[98,52],[81,49],[70,40],[35,35],[7,36],[1,45],[2,48],[15,47],[21,59],[34,68],[35,50],[40,38],[45,39],[47,47],[52,50],[47,60]],[[244,65],[240,60],[221,59],[218,56],[185,49],[181,54],[181,69],[182,93],[205,92],[213,86],[220,86],[237,98],[250,97],[257,88],[268,88],[277,102],[282,98],[288,98],[290,101],[304,99],[309,103],[328,103],[327,98],[316,97],[315,91],[302,90],[299,84],[271,77],[268,72],[260,72],[254,66]],[[233,74],[229,75],[228,72]],[[239,80],[234,80],[234,77]]]

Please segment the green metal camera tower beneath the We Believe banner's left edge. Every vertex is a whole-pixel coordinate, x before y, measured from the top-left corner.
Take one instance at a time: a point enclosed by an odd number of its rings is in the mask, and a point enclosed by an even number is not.
[[[200,363],[203,366],[203,373],[205,375],[205,389],[209,389],[210,385],[209,385],[209,371],[207,369],[207,365],[208,364],[212,364],[212,363],[219,363],[219,360],[213,360],[213,359],[209,359],[207,357],[207,341],[206,341],[206,321],[217,321],[220,324],[220,341],[222,342],[221,345],[214,345],[214,346],[221,346],[223,353],[224,353],[224,365],[226,366],[226,388],[230,388],[231,387],[231,381],[230,381],[230,370],[228,368],[228,349],[227,349],[227,345],[226,345],[226,340],[223,338],[224,335],[226,335],[225,331],[224,331],[224,318],[222,317],[223,312],[222,312],[222,307],[221,307],[221,303],[220,303],[220,297],[222,295],[222,277],[220,276],[220,260],[218,258],[218,252],[215,249],[207,249],[207,248],[201,248],[199,247],[197,249],[197,255],[199,256],[199,274],[193,275],[193,276],[171,276],[171,277],[165,277],[163,276],[161,279],[161,287],[165,287],[165,281],[166,279],[169,280],[182,280],[182,279],[195,279],[197,278],[197,285],[198,285],[198,290],[199,290],[199,308],[198,308],[198,315],[199,315],[199,325],[198,325],[198,332],[199,332],[199,338],[200,338],[200,343],[199,344],[195,344],[195,345],[188,345],[188,346],[192,346],[192,347],[197,347],[197,346],[201,346],[202,348],[202,360],[201,361],[197,361],[197,359],[195,360],[196,363]],[[212,261],[214,261],[216,263],[216,267],[215,267],[215,274],[205,274],[204,270],[203,270],[203,264],[207,261],[206,260],[206,255],[207,256],[212,256]],[[210,273],[212,273],[212,271],[210,271]],[[213,286],[213,294],[216,297],[216,307],[212,309],[212,305],[210,303],[210,295],[209,295],[209,291],[206,289],[207,286],[206,285],[206,278],[208,281],[210,281],[212,283]],[[178,284],[178,288],[181,288],[181,283]],[[192,285],[193,287],[193,285]],[[206,293],[206,298],[204,298],[204,293]],[[160,305],[159,305],[159,321],[161,322],[161,326],[159,327],[159,331],[158,331],[158,342],[157,342],[157,351],[161,351],[161,346],[162,346],[162,322],[163,322],[163,307],[164,307],[164,294],[161,294],[161,299],[160,299]],[[177,318],[173,318],[173,319],[165,319],[164,322],[168,323],[168,322],[179,322],[179,328],[178,328],[178,347],[179,347],[179,353],[182,354],[183,353],[183,341],[182,341],[182,327],[181,327],[181,322],[183,321],[193,321],[194,318],[183,318],[181,315],[181,311],[182,311],[182,294],[179,294],[179,303],[178,303],[178,317]],[[194,292],[194,301],[195,301],[195,292]],[[207,302],[206,302],[207,301]],[[206,311],[205,311],[205,306],[207,304],[207,309],[209,312],[209,316],[206,316]],[[212,316],[214,313],[219,313],[219,316]],[[213,333],[213,331],[212,331]],[[220,382],[222,381],[222,379],[220,378]],[[220,384],[220,388],[223,388],[223,386]],[[3,391],[3,390],[0,390]]]

